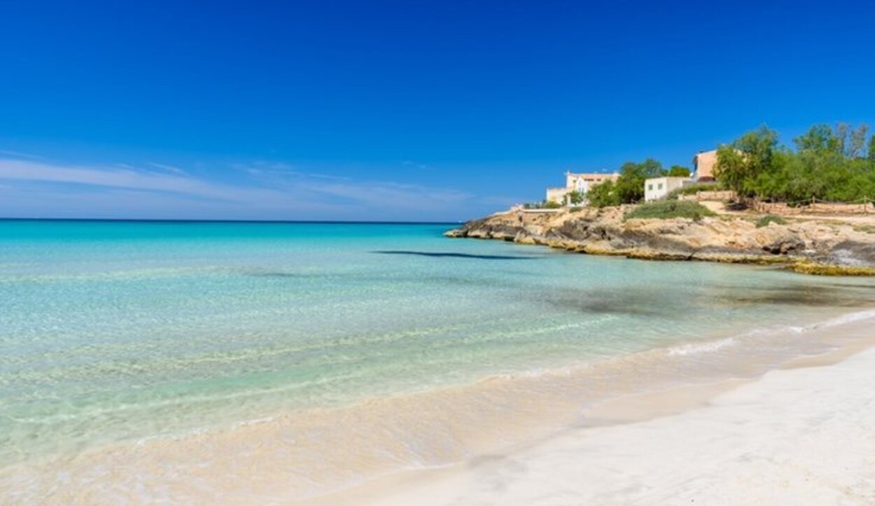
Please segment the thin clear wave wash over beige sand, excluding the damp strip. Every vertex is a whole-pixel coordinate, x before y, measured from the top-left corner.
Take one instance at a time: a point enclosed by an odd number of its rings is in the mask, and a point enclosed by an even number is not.
[[[106,502],[140,502],[143,497],[137,490],[156,489],[181,500],[236,502],[245,498],[235,494],[253,486],[267,494],[259,495],[264,502],[300,499],[381,474],[444,467],[542,438],[579,421],[581,410],[598,400],[659,390],[679,380],[712,382],[760,374],[774,366],[775,357],[788,360],[823,351],[816,342],[841,334],[838,327],[858,328],[873,317],[875,311],[851,313],[805,326],[802,332],[800,327],[785,327],[783,332],[754,329],[743,338],[688,343],[732,351],[730,355],[702,354],[696,348],[653,349],[581,367],[533,369],[488,376],[469,385],[370,398],[346,408],[141,438],[95,448],[72,461],[5,467],[0,485],[17,489],[23,502],[36,497],[74,501],[88,490],[100,490]],[[738,346],[741,342],[748,346]],[[786,346],[791,342],[807,346]],[[673,348],[675,353],[670,352]],[[678,351],[684,349],[690,351]],[[697,359],[690,360],[697,353]],[[753,370],[752,364],[759,365]],[[116,487],[110,490],[105,488],[106,476],[95,469],[112,468],[137,472],[116,476]],[[76,486],[54,487],[53,477],[59,472]],[[193,490],[196,496],[189,495]]]

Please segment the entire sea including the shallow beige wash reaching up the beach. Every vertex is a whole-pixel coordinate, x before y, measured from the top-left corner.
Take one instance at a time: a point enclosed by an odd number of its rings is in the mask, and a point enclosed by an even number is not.
[[[749,349],[767,367],[875,299],[448,228],[0,221],[0,502],[197,502],[259,465],[273,492],[246,497],[269,502],[444,465],[513,442],[494,420],[549,425],[556,392],[582,406]]]

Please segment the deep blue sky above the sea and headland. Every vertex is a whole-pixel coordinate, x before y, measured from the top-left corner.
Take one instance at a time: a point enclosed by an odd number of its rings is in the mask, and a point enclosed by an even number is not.
[[[463,220],[875,126],[870,2],[0,0],[0,216]]]

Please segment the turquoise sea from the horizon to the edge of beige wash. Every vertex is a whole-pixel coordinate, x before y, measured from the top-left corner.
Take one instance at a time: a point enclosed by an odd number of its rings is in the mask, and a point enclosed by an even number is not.
[[[865,279],[589,257],[448,228],[0,221],[0,488],[45,491],[34,469],[105,447],[330,419],[648,350],[697,362],[875,295]]]

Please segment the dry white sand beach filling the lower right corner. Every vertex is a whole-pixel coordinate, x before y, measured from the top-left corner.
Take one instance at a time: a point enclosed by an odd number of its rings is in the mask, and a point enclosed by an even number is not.
[[[872,320],[753,380],[619,397],[508,453],[307,504],[875,504]]]

